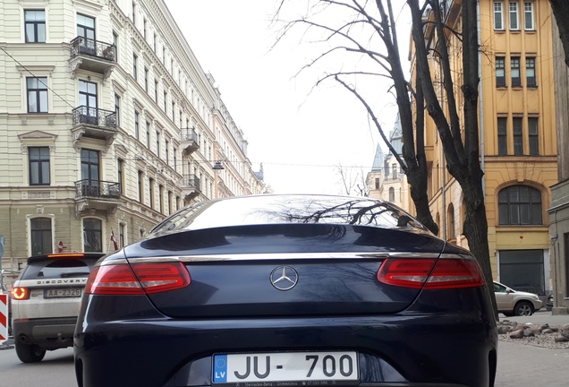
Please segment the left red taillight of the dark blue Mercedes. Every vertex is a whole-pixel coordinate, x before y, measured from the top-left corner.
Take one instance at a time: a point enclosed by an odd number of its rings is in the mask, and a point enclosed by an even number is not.
[[[182,262],[99,266],[89,276],[85,292],[95,295],[143,295],[190,285]]]

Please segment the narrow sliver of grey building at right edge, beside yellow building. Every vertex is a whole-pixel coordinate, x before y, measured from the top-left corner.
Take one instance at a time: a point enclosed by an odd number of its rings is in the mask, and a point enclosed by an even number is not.
[[[556,22],[553,23],[553,65],[556,90],[556,130],[558,178],[551,187],[549,232],[551,236],[551,267],[554,288],[553,314],[569,312],[569,67],[559,39]]]

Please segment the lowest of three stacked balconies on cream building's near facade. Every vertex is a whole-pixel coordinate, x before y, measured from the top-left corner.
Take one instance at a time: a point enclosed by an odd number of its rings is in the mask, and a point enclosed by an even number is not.
[[[75,217],[103,213],[111,218],[121,200],[121,184],[83,179],[75,182]]]

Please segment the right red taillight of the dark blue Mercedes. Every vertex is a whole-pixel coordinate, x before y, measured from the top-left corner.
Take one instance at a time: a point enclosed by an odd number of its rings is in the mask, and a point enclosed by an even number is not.
[[[434,268],[433,268],[434,266]],[[477,262],[461,258],[387,259],[379,282],[404,288],[474,288],[485,284]]]

